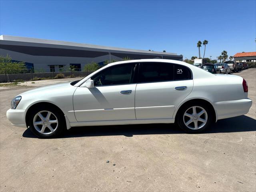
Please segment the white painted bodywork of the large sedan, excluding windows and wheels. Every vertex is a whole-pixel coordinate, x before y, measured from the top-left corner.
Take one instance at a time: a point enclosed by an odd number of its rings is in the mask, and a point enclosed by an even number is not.
[[[193,80],[99,86],[86,88],[83,84],[105,68],[129,62],[169,62],[187,66]],[[67,128],[116,124],[173,123],[182,104],[193,99],[208,101],[216,112],[216,120],[246,114],[252,105],[242,87],[243,79],[234,75],[214,75],[196,66],[176,60],[145,59],[116,62],[104,66],[77,82],[36,88],[20,94],[22,99],[7,118],[17,126],[25,126],[26,112],[33,104],[49,102],[65,115]],[[81,86],[83,85],[83,87]],[[81,86],[81,87],[80,87]],[[186,90],[174,90],[187,86]],[[121,90],[132,90],[122,95]],[[73,98],[74,96],[74,98]],[[74,105],[73,105],[74,102]]]

